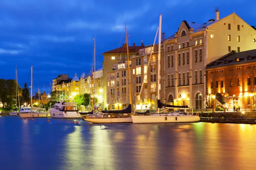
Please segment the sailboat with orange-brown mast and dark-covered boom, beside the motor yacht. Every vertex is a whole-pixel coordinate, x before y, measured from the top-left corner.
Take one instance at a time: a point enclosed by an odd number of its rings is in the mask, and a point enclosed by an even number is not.
[[[127,56],[129,56],[128,50],[128,38],[127,38],[127,31],[125,26],[125,36],[126,36],[126,48],[127,48]],[[94,41],[94,57],[95,57],[95,41]],[[90,114],[83,118],[84,121],[90,123],[131,123],[131,81],[130,81],[130,64],[129,64],[129,57],[128,59],[128,82],[129,82],[129,97],[130,97],[130,104],[127,108],[119,111],[102,111],[99,114]],[[94,59],[95,62],[95,59]],[[94,63],[95,64],[95,63]],[[94,74],[95,75],[95,74]]]

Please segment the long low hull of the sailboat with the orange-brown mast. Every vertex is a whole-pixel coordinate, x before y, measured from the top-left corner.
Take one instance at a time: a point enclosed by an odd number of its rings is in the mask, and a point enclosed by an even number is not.
[[[119,118],[85,118],[83,119],[90,123],[132,123],[131,117],[119,117]]]

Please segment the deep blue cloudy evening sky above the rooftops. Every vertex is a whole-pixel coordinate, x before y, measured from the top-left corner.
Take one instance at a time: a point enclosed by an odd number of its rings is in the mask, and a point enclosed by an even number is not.
[[[244,3],[246,2],[246,3]],[[250,25],[256,25],[255,0],[1,0],[0,1],[0,78],[15,79],[33,88],[49,83],[58,74],[80,77],[91,68],[93,37],[96,36],[96,68],[102,67],[102,53],[125,42],[152,44],[163,14],[166,37],[177,31],[183,20],[206,23],[234,10]],[[29,79],[28,79],[29,78]]]

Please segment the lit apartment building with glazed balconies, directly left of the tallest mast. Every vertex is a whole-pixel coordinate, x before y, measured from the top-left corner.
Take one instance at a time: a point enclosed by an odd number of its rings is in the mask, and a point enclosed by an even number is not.
[[[158,89],[157,56],[158,44],[154,46],[146,45],[137,52],[136,56],[131,58],[131,98],[133,108],[135,108],[136,105],[136,110],[138,111],[156,109]],[[140,94],[141,88],[143,89]]]

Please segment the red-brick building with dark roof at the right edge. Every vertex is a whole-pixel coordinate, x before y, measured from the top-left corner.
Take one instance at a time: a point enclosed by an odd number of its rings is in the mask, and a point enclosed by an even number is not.
[[[217,108],[222,101],[230,110],[234,106],[249,111],[255,108],[256,49],[238,53],[231,51],[209,63],[206,75],[208,108]]]

